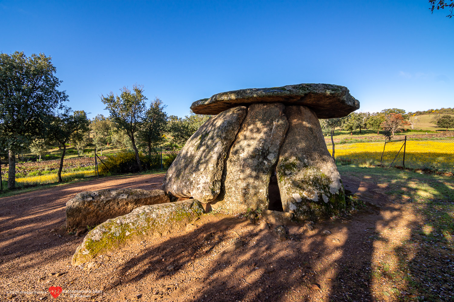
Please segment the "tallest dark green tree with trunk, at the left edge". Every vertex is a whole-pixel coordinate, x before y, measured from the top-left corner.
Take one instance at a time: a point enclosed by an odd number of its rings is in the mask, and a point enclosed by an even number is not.
[[[55,77],[51,58],[44,53],[0,53],[0,136],[9,150],[8,187],[15,187],[15,152],[42,136],[52,114],[63,101],[61,81]]]

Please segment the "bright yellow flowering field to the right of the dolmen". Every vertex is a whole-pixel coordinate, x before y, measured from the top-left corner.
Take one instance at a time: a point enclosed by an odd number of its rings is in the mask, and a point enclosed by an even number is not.
[[[390,165],[404,142],[386,143],[383,164]],[[336,160],[355,164],[380,164],[384,142],[335,144]],[[331,145],[328,146],[330,153]],[[400,151],[393,166],[402,165],[404,149]],[[430,168],[454,172],[454,140],[407,140],[405,147],[405,167]]]

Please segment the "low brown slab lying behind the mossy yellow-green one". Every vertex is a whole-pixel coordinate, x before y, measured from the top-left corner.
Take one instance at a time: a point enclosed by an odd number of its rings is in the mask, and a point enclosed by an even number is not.
[[[163,190],[114,189],[80,192],[66,202],[66,227],[99,225],[139,206],[170,202]]]

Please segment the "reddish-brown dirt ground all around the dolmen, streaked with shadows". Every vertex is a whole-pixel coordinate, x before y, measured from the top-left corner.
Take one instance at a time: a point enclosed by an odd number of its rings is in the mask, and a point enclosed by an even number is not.
[[[211,213],[78,267],[70,260],[84,236],[65,231],[66,201],[82,191],[157,189],[163,174],[0,198],[0,300],[51,301],[55,287],[58,301],[453,301],[452,182],[426,182],[446,197],[432,192],[428,204],[412,187],[416,173],[399,183],[378,169],[340,171],[365,206],[315,222],[312,231],[289,225],[292,240],[279,241],[273,226],[261,230],[244,216]],[[238,240],[239,249],[217,258]]]

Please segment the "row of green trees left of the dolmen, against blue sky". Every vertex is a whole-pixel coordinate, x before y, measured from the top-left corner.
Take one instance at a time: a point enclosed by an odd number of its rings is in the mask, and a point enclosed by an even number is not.
[[[110,116],[96,115],[92,120],[83,110],[65,106],[66,91],[60,91],[62,81],[55,77],[51,57],[44,53],[25,56],[23,52],[0,53],[0,154],[8,157],[8,187],[15,188],[16,155],[28,149],[41,160],[53,144],[62,150],[58,170],[59,182],[67,145],[73,145],[78,155],[93,144],[102,154],[106,146],[133,149],[139,169],[139,152],[155,152],[167,144],[171,148],[184,145],[186,140],[210,116],[191,112],[184,118],[168,116],[166,105],[159,98],[147,103],[143,86],[109,92],[101,101]]]

